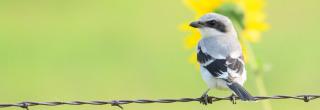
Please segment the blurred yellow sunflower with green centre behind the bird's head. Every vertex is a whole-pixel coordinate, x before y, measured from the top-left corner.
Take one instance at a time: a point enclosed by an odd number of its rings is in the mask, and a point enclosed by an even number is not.
[[[269,28],[265,22],[263,8],[264,0],[184,0],[187,7],[195,12],[195,18],[209,13],[216,12],[228,16],[236,25],[239,39],[243,47],[245,60],[249,60],[248,45],[257,43],[261,39],[261,32]],[[193,49],[200,40],[200,33],[185,23],[181,26],[182,30],[191,31],[185,39],[185,47]],[[193,53],[190,60],[196,62],[196,54]]]

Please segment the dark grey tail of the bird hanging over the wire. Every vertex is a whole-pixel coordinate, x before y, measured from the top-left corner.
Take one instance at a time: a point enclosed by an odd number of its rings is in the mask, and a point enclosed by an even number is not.
[[[243,101],[254,101],[254,97],[244,89],[240,84],[232,82],[228,87]]]

